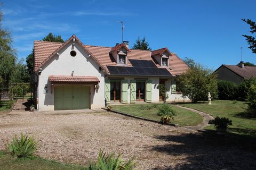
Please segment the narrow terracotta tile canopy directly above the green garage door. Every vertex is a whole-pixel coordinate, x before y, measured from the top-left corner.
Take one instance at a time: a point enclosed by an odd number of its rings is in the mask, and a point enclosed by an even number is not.
[[[100,82],[97,77],[93,76],[67,76],[67,75],[50,75],[49,81],[52,82]]]

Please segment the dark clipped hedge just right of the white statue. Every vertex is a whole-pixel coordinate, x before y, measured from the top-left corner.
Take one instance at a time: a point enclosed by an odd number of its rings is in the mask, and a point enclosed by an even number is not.
[[[231,81],[218,80],[218,97],[221,100],[234,100],[237,96],[238,86]]]

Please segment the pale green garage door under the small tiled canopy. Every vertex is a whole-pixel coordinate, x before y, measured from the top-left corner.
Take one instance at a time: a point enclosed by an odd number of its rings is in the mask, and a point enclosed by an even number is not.
[[[54,110],[90,108],[90,87],[64,85],[54,88]]]

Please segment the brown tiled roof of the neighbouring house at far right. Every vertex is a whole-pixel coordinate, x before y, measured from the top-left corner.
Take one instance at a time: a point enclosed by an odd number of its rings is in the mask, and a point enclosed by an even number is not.
[[[251,77],[256,77],[256,67],[255,66],[244,66],[244,69],[237,65],[225,65],[229,70],[238,74],[240,77],[244,79],[249,79]],[[218,69],[217,69],[218,70]]]

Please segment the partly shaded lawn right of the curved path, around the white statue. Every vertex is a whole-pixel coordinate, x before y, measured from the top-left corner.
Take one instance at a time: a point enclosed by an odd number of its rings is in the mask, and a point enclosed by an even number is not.
[[[182,103],[180,105],[209,113],[214,117],[228,117],[233,122],[228,130],[230,133],[256,137],[256,118],[246,117],[247,104],[243,101],[213,100],[212,105],[208,103]],[[214,129],[214,126],[211,125],[206,129]]]

